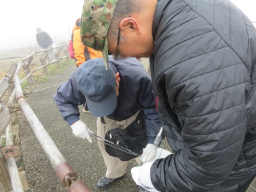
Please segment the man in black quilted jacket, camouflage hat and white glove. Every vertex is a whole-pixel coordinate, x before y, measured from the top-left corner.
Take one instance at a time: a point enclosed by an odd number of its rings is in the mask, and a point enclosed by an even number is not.
[[[228,0],[89,2],[83,25],[104,23],[107,32],[82,29],[84,44],[94,40],[94,49],[116,58],[150,56],[159,116],[175,153],[141,166],[138,183],[149,191],[246,191],[256,175],[252,22]]]

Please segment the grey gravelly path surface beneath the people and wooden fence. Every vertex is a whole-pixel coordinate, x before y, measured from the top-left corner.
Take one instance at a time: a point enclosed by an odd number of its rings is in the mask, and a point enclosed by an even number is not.
[[[143,61],[148,63],[147,60]],[[56,89],[59,86],[56,84],[66,81],[75,69],[75,66],[68,67],[61,74],[52,76],[50,81],[39,84],[35,92],[29,95],[28,103],[67,162],[76,171],[79,179],[83,180],[92,191],[99,191],[95,187],[95,183],[104,175],[106,168],[97,143],[93,141],[93,145],[91,145],[85,140],[76,138],[68,124],[61,118],[58,108],[52,99],[52,95],[56,93]],[[49,86],[52,87],[49,88]],[[43,88],[46,89],[41,90]],[[82,112],[81,119],[86,122],[90,129],[96,132],[95,117]],[[20,126],[20,139],[30,191],[67,191],[56,178],[50,161],[47,159],[24,116]],[[162,147],[168,149],[166,141],[164,141]],[[111,188],[105,191],[138,191],[136,184],[131,179],[130,170],[132,166],[136,166],[136,163],[129,161],[127,175],[124,179],[118,180]],[[248,192],[253,191],[256,191],[255,182],[248,189]]]

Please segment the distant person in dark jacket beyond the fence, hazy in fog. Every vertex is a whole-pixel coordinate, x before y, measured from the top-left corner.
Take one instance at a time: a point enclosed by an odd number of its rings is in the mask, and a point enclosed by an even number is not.
[[[40,47],[42,47],[43,49],[56,47],[56,44],[54,44],[51,36],[48,33],[42,31],[41,28],[36,28],[36,32],[36,41]],[[49,54],[51,55],[52,60],[54,60],[54,51],[49,51]]]

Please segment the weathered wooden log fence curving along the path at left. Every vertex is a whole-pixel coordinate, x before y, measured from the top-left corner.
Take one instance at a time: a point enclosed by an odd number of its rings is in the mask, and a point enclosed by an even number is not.
[[[47,62],[47,56],[49,54],[49,51],[52,51],[52,49],[57,49],[55,52],[55,60],[52,62]],[[64,50],[65,56],[60,58],[60,52]],[[43,52],[40,62],[41,67],[36,68],[35,70],[30,70],[30,64],[33,60],[33,57]],[[57,65],[60,67],[60,61],[63,59],[66,59],[68,61],[69,55],[67,51],[67,45],[54,47],[51,49],[44,49],[42,51],[35,51],[28,56],[22,58],[18,64],[14,63],[10,70],[8,70],[6,76],[4,79],[0,82],[0,104],[1,104],[1,98],[3,97],[4,93],[9,89],[9,92],[12,93],[9,100],[8,100],[8,106],[10,107],[13,102],[18,102],[20,105],[20,108],[22,109],[22,112],[26,116],[29,125],[31,125],[31,128],[35,132],[36,138],[38,139],[40,145],[44,149],[45,154],[51,161],[52,167],[55,170],[56,176],[60,180],[61,184],[68,189],[68,192],[71,191],[77,191],[77,192],[90,192],[90,189],[88,189],[84,183],[80,180],[77,180],[76,172],[72,169],[70,164],[67,163],[65,158],[62,156],[60,150],[55,145],[54,141],[52,141],[51,137],[47,133],[47,131],[44,129],[44,126],[41,124],[40,120],[38,120],[37,116],[29,106],[28,102],[24,99],[24,95],[22,93],[21,84],[28,80],[29,84],[34,84],[33,81],[33,73],[43,69],[44,74],[48,75],[47,72],[47,66],[51,65],[52,63],[57,63]],[[20,70],[24,69],[24,72],[26,76],[20,80],[19,74]],[[11,85],[13,84],[12,79],[14,79],[14,86],[10,89]],[[3,86],[2,86],[3,85]],[[16,97],[15,97],[16,96]],[[10,175],[10,179],[6,179],[3,182],[6,182],[5,188],[2,190],[8,191],[10,190],[10,180],[12,181],[12,189],[13,191],[23,191],[22,184],[20,182],[19,178],[19,172],[17,169],[17,166],[15,164],[15,159],[13,157],[13,139],[12,139],[12,123],[11,116],[10,116],[10,109],[9,111],[6,110],[6,107],[1,104],[0,108],[0,116],[4,116],[3,119],[5,121],[0,119],[0,136],[3,134],[4,129],[6,133],[6,150],[5,150],[5,159],[8,166],[8,172],[6,173],[6,169],[4,170],[4,166],[1,168],[1,163],[5,164],[5,161],[3,157],[0,154],[0,178],[1,178],[1,172],[5,174],[4,178],[8,178],[8,175]],[[9,124],[10,123],[10,124]],[[1,125],[3,125],[1,127]],[[7,176],[6,176],[7,175]],[[9,187],[8,187],[9,186]],[[0,181],[0,191],[1,191],[1,181]]]

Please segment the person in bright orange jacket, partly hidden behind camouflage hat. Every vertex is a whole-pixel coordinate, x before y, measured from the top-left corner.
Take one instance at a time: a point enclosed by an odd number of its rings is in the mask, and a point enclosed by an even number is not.
[[[85,46],[81,42],[81,18],[76,20],[71,39],[73,42],[74,55],[76,58],[77,67],[79,67],[79,65],[81,65],[85,61],[94,58],[102,58],[102,52],[95,51],[94,49]]]

